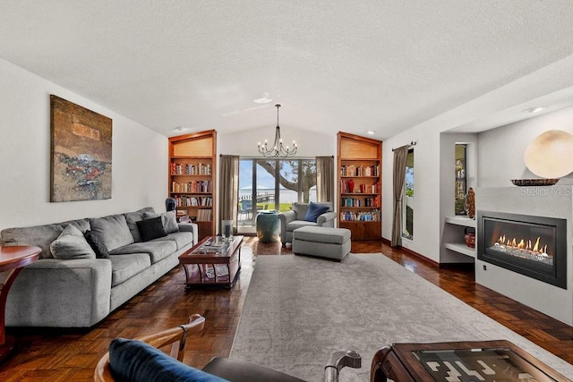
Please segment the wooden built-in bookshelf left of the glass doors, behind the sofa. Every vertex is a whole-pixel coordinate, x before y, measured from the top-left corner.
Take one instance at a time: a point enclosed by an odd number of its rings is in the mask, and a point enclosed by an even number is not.
[[[177,216],[199,226],[199,239],[215,233],[217,132],[193,132],[169,138],[168,194]]]

